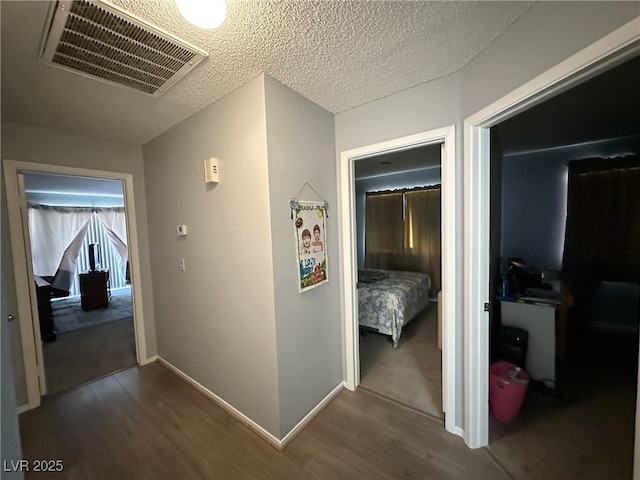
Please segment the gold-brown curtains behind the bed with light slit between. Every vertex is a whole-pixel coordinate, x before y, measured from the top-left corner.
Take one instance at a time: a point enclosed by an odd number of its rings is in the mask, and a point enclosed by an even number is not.
[[[365,267],[425,272],[442,284],[440,186],[367,193]]]

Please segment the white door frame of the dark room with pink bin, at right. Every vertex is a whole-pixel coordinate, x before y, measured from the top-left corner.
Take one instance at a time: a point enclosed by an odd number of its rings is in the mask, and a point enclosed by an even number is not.
[[[489,129],[637,55],[639,32],[636,17],[464,121],[465,441],[471,448],[489,440]]]

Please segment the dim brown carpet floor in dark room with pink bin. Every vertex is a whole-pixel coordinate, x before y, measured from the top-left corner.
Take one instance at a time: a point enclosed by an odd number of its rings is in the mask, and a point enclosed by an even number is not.
[[[515,420],[490,417],[488,449],[515,478],[632,478],[637,341],[601,340],[558,365],[555,389],[529,385]]]

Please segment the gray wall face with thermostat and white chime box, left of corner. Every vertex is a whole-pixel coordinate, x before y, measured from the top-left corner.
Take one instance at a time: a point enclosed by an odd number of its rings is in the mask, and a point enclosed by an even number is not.
[[[260,76],[143,150],[158,354],[277,437],[265,115]],[[218,184],[204,182],[209,157]]]

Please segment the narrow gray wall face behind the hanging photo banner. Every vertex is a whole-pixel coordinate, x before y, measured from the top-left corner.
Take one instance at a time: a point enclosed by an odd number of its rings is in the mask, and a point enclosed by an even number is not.
[[[280,432],[286,435],[342,383],[342,323],[334,116],[266,76],[269,203],[275,294]],[[329,204],[329,282],[298,293],[298,266],[289,201],[305,183]],[[299,200],[318,200],[305,188]]]

